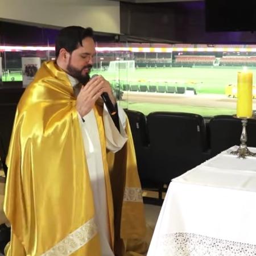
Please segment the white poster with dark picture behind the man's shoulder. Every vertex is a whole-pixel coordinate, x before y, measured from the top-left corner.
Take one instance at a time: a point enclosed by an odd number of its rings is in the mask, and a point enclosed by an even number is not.
[[[35,74],[40,68],[40,57],[22,57],[22,81],[26,87],[34,80]]]

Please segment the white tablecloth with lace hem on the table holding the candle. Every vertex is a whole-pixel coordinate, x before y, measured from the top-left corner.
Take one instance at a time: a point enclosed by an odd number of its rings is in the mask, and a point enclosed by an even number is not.
[[[256,255],[256,158],[230,150],[171,181],[147,256]]]

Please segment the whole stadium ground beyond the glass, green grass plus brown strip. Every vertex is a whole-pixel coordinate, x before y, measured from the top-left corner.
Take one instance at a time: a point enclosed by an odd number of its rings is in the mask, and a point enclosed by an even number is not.
[[[138,97],[132,97],[132,93],[129,92],[124,94],[123,100],[119,104],[123,108],[139,110],[144,114],[154,111],[174,111],[197,113],[205,117],[211,117],[218,114],[236,113],[236,99],[229,99],[225,96],[225,87],[229,84],[237,84],[237,72],[242,71],[242,69],[242,67],[209,66],[137,68],[135,71],[122,70],[117,72],[94,69],[91,75],[94,73],[102,75],[113,86],[121,85],[121,89],[123,84],[195,88],[197,95],[186,96],[186,100],[184,100],[184,97],[179,97],[179,95],[175,94],[170,95],[170,100],[164,100],[161,95],[166,95],[167,93],[151,93],[149,98],[145,97],[145,94],[138,92]],[[253,72],[253,84],[256,84],[256,67],[249,67],[248,69]],[[10,72],[8,76],[3,76],[3,81],[12,80],[22,81],[20,72]],[[148,94],[146,93],[146,95]],[[153,100],[152,97],[154,98]],[[226,104],[225,99],[230,100],[230,104]]]

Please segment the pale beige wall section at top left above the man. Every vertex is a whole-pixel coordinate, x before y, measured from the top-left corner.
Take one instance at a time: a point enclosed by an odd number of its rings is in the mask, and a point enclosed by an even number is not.
[[[120,33],[119,2],[109,0],[0,0],[0,19]]]

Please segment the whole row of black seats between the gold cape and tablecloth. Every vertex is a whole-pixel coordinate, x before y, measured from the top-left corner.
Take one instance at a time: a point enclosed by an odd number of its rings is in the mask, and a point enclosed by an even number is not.
[[[159,192],[171,179],[240,144],[241,120],[231,115],[125,110],[133,134],[142,187]],[[256,119],[248,119],[247,145],[256,147]]]

